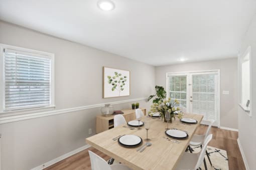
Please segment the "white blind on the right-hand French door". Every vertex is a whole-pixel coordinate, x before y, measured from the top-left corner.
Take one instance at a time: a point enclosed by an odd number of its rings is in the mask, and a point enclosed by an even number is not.
[[[216,120],[218,109],[218,74],[192,75],[193,113],[203,114],[204,120]]]

